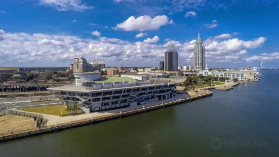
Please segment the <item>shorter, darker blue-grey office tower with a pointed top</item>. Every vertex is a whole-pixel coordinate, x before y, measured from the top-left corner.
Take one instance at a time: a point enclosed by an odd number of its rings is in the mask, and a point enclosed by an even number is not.
[[[165,71],[178,71],[178,53],[175,50],[172,42],[165,52]]]

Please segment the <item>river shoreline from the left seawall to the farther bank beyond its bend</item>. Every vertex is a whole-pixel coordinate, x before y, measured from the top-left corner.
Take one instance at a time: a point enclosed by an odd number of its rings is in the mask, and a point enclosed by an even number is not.
[[[227,88],[226,90],[230,90],[230,89],[233,89],[234,86],[237,86],[240,84],[241,83],[226,84],[225,88]],[[58,124],[58,125],[49,125],[42,129],[36,128],[33,130],[17,132],[14,134],[3,134],[3,135],[0,135],[0,142],[15,140],[15,139],[19,139],[19,138],[25,138],[25,137],[30,137],[30,136],[36,136],[36,135],[41,135],[41,134],[45,134],[45,133],[62,131],[65,129],[80,127],[80,126],[84,126],[84,125],[97,124],[97,123],[104,122],[104,121],[118,119],[118,118],[130,116],[130,115],[134,115],[134,114],[138,114],[138,113],[148,112],[148,111],[158,109],[158,108],[164,108],[164,107],[184,103],[187,101],[192,101],[195,99],[201,99],[203,97],[208,97],[213,94],[213,92],[209,91],[209,89],[224,90],[224,89],[220,89],[220,87],[222,87],[222,86],[223,85],[218,85],[218,86],[214,86],[214,87],[204,87],[204,88],[196,89],[194,91],[187,91],[187,93],[190,95],[189,98],[183,98],[183,99],[179,99],[179,100],[175,100],[175,101],[171,101],[171,102],[165,102],[162,104],[152,105],[149,107],[143,106],[142,108],[139,108],[139,109],[132,109],[132,110],[128,110],[128,111],[124,111],[124,112],[120,112],[120,113],[111,113],[111,114],[105,114],[105,115],[100,115],[100,116],[96,116],[96,117],[92,116],[91,118],[88,118],[88,119],[76,120],[76,121],[71,121],[71,122],[62,123],[62,124]],[[195,91],[197,91],[197,92],[195,92]]]

